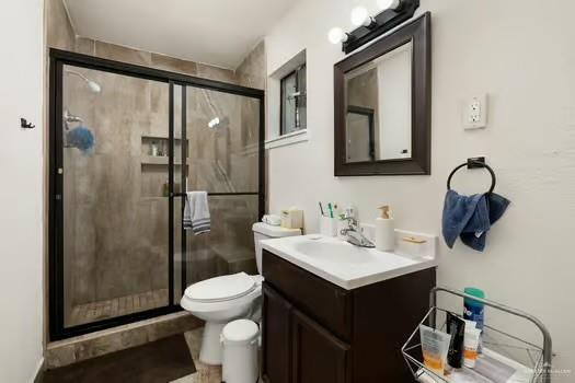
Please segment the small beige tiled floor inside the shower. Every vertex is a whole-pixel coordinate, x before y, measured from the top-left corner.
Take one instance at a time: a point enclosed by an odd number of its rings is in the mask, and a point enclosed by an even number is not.
[[[142,292],[106,301],[78,304],[70,312],[69,326],[76,326],[108,317],[128,315],[140,311],[163,307],[168,304],[168,289]]]

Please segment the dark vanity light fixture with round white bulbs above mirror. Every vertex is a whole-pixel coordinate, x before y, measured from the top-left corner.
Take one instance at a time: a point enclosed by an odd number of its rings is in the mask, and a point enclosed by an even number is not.
[[[352,24],[356,28],[345,33],[340,27],[333,27],[327,34],[330,43],[342,43],[342,50],[349,54],[413,18],[419,8],[419,0],[377,0],[377,4],[381,12],[375,16],[370,16],[365,7],[354,8]]]

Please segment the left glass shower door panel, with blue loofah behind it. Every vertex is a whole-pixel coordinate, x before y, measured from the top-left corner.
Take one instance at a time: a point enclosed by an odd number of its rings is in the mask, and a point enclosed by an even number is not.
[[[62,67],[64,326],[169,301],[169,84]]]

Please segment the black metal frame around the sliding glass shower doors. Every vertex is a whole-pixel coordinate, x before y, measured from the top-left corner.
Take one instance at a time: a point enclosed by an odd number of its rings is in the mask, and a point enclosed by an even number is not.
[[[145,80],[166,83],[169,92],[169,304],[163,307],[147,310],[128,315],[101,320],[97,322],[81,324],[77,326],[65,326],[65,305],[64,305],[64,177],[59,170],[64,167],[62,159],[62,78],[64,66],[74,66],[87,69],[100,70],[116,74],[123,74]],[[264,137],[265,137],[265,93],[262,90],[234,85],[226,82],[202,79],[149,67],[136,66],[99,57],[81,55],[77,53],[50,49],[49,51],[49,166],[48,166],[48,322],[50,340],[65,339],[82,334],[92,333],[110,327],[119,326],[133,322],[138,322],[160,315],[165,315],[181,311],[179,297],[174,297],[174,198],[183,198],[184,195],[174,193],[174,86],[182,86],[182,142],[186,141],[186,88],[200,88],[229,94],[235,94],[260,101],[260,140],[258,140],[258,185],[256,193],[209,193],[210,196],[249,196],[258,197],[258,217],[262,218],[265,211],[265,159],[264,159]],[[182,170],[186,169],[186,158],[182,144]],[[181,185],[185,185],[185,172],[182,171]],[[184,204],[181,204],[182,209]],[[186,232],[182,230],[182,291],[186,287]]]

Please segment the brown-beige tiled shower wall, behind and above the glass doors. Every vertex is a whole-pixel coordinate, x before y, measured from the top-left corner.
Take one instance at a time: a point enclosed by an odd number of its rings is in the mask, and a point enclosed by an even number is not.
[[[46,12],[49,47],[251,88],[265,88],[263,43],[254,48],[237,70],[228,70],[74,36],[60,0],[47,0]],[[65,105],[84,118],[84,125],[96,137],[91,156],[77,150],[65,150],[65,161],[72,164],[66,169],[66,179],[70,181],[65,184],[66,204],[74,207],[68,209],[66,216],[65,229],[70,240],[65,241],[65,253],[68,255],[65,259],[65,275],[68,277],[65,280],[65,299],[70,304],[81,304],[165,288],[168,202],[145,198],[149,196],[142,193],[146,183],[153,187],[166,177],[166,167],[165,174],[158,172],[156,179],[146,181],[140,164],[141,136],[168,136],[168,88],[140,79],[79,71],[97,81],[103,91],[97,95],[91,94],[81,81],[69,77],[65,79],[65,84],[69,83],[68,88],[65,86],[68,92]],[[106,94],[113,96],[106,98]],[[257,123],[257,103],[243,97],[230,97],[216,92],[208,94],[188,90],[186,107],[188,116],[194,116],[188,120],[193,123],[194,118],[198,119],[197,124],[188,124],[188,135],[194,132],[194,127],[207,124],[206,119],[214,114],[214,105],[225,108],[230,118],[228,138],[218,138],[215,134],[209,136],[210,132],[206,134],[204,129],[203,135],[208,136],[202,137],[202,140],[191,140],[189,162],[198,163],[200,159],[228,155],[220,163],[223,163],[223,167],[228,166],[225,171],[230,175],[229,183],[235,192],[246,192],[244,188],[251,187],[257,175],[256,166],[249,160],[250,155],[255,155],[257,136],[254,129],[246,128]],[[206,146],[208,142],[209,146]],[[209,148],[212,150],[209,151]],[[202,154],[202,151],[209,152]],[[199,183],[198,178],[192,179]],[[218,192],[222,188],[217,177],[206,176],[203,182],[189,185],[189,188],[196,186]],[[114,198],[118,195],[122,198]],[[212,216],[221,217],[226,224],[217,222],[209,239],[188,240],[188,248],[198,257],[192,259],[195,260],[193,267],[188,266],[188,281],[226,272],[226,265],[221,265],[226,256],[218,254],[225,253],[232,257],[242,252],[250,254],[250,246],[253,245],[251,221],[256,217],[246,213],[246,210],[256,209],[255,198],[210,202],[215,209]],[[125,217],[131,217],[131,221]],[[232,242],[227,241],[230,233],[237,236]],[[239,246],[243,251],[218,249],[218,244]],[[253,271],[253,260],[251,266],[245,263],[241,265],[241,268]]]

